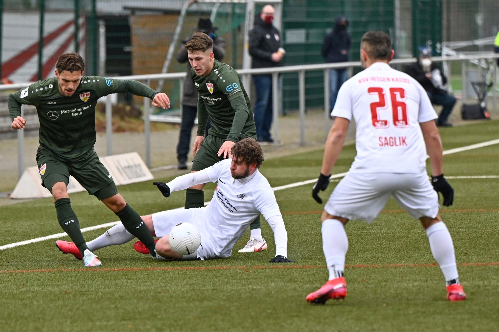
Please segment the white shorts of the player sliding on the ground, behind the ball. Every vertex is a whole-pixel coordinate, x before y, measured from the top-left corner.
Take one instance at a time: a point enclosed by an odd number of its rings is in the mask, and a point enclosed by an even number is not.
[[[167,210],[152,214],[154,232],[157,237],[163,237],[170,234],[173,226],[181,222],[190,222],[198,227],[201,233],[201,245],[196,252],[190,255],[184,255],[183,260],[198,259],[213,259],[218,258],[214,251],[210,237],[203,234],[201,224],[204,217],[204,208],[193,209],[175,209]]]

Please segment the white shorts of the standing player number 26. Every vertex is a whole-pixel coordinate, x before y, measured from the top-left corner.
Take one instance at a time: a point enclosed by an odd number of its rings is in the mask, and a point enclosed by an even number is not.
[[[374,221],[392,196],[414,219],[437,217],[438,194],[428,175],[348,172],[329,197],[324,210],[350,220]]]

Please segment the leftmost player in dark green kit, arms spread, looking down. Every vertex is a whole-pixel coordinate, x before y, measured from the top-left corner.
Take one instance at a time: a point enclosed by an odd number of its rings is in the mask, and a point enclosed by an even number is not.
[[[12,129],[22,129],[21,105],[36,107],[40,121],[39,147],[36,163],[42,185],[52,194],[57,220],[81,253],[85,266],[99,266],[85,244],[69,196],[67,185],[72,175],[90,195],[102,201],[119,217],[125,228],[140,239],[153,258],[154,238],[140,218],[118,194],[116,184],[94,151],[95,105],[97,99],[113,93],[132,93],[149,97],[153,106],[167,109],[170,100],[145,84],[131,80],[116,80],[99,76],[83,76],[85,64],[76,52],[62,54],[55,65],[54,78],[38,81],[8,97]]]

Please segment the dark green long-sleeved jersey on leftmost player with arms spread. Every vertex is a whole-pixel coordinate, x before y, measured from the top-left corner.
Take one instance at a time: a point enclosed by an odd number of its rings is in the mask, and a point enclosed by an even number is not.
[[[66,97],[59,92],[58,79],[54,77],[14,92],[7,104],[12,120],[21,115],[22,104],[35,106],[40,121],[40,147],[65,161],[77,161],[93,151],[97,99],[125,92],[150,99],[157,94],[137,81],[83,76],[74,94]]]

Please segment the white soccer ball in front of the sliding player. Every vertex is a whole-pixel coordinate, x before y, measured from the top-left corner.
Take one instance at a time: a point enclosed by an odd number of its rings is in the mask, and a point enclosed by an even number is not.
[[[168,242],[175,252],[181,255],[190,255],[198,250],[201,244],[201,234],[192,223],[181,222],[170,230]]]

